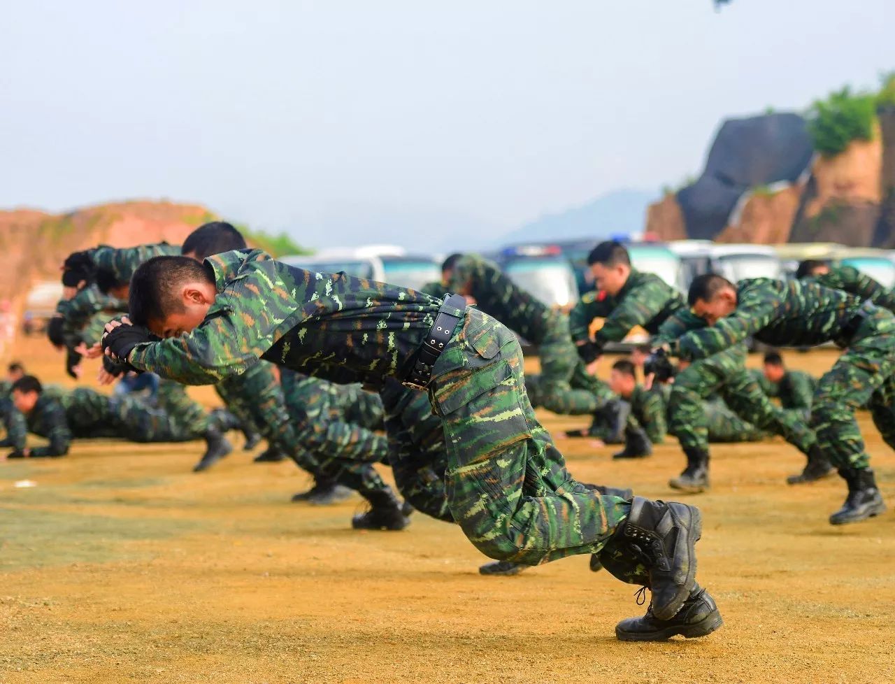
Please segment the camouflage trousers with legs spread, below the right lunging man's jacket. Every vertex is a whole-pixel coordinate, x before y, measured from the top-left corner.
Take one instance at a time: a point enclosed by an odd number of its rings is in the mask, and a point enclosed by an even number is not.
[[[669,432],[684,449],[708,450],[709,426],[703,401],[717,394],[746,423],[779,434],[806,454],[816,442],[814,432],[797,414],[774,406],[746,371],[745,363],[746,346],[737,345],[679,372],[671,386]]]

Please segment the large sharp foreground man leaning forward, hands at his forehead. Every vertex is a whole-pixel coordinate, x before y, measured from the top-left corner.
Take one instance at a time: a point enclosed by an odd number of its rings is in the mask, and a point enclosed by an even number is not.
[[[447,444],[448,506],[477,548],[528,565],[600,553],[614,576],[652,591],[651,609],[619,624],[619,638],[720,627],[695,584],[698,509],[604,497],[575,482],[525,395],[516,337],[463,297],[442,302],[260,251],[226,252],[204,265],[146,262],[132,278],[130,312],[137,325],[107,324],[107,354],[183,382],[217,382],[264,358],[340,382],[381,388],[391,377],[428,389]]]

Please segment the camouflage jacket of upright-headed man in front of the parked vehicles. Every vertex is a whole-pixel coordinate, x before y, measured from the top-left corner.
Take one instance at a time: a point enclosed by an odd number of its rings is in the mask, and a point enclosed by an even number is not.
[[[603,291],[582,295],[569,312],[569,327],[572,339],[584,342],[590,339],[592,321],[604,319],[603,327],[594,336],[594,342],[601,348],[607,342],[620,342],[638,325],[655,335],[665,321],[680,312],[688,310],[674,287],[652,273],[631,269],[618,295]]]

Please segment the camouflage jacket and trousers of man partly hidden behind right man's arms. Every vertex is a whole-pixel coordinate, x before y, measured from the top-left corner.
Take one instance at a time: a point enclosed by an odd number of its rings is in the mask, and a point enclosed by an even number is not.
[[[687,329],[704,325],[674,288],[652,273],[635,269],[618,295],[587,293],[569,317],[576,342],[590,339],[593,319],[605,319],[594,338],[597,349],[624,339],[638,325],[655,335],[657,343],[677,340]],[[687,453],[708,452],[709,426],[703,405],[714,395],[720,395],[747,423],[780,434],[803,453],[814,446],[814,433],[805,422],[773,406],[746,371],[746,345],[741,343],[691,363],[675,377],[668,405],[669,432]]]

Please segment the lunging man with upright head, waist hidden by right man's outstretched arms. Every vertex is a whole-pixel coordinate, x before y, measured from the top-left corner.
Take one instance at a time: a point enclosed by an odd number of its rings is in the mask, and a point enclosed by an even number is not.
[[[584,363],[593,363],[602,348],[620,341],[635,326],[658,339],[675,340],[694,322],[678,292],[658,276],[631,267],[625,247],[617,242],[598,244],[588,263],[600,290],[587,293],[569,314],[572,337]],[[590,326],[603,318],[594,338]],[[709,487],[708,426],[703,401],[719,393],[728,406],[748,423],[783,436],[809,457],[820,457],[814,433],[804,421],[785,414],[764,396],[746,372],[746,345],[738,344],[717,355],[692,363],[678,373],[669,401],[669,432],[680,441],[686,454],[686,468],[669,481],[669,486],[685,492],[703,492]]]

